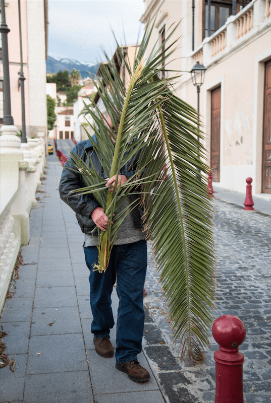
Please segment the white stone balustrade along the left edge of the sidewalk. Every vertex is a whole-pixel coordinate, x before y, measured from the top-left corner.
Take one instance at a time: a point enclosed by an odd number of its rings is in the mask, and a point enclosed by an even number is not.
[[[21,145],[16,132],[16,126],[1,127],[0,312],[20,247],[29,242],[29,214],[37,204],[35,192],[45,165],[43,136]]]

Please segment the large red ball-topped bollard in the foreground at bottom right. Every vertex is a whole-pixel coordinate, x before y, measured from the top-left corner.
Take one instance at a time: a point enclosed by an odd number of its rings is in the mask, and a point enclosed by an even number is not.
[[[238,346],[245,340],[245,325],[236,316],[223,315],[214,321],[212,334],[219,344],[219,350],[213,354],[216,379],[214,403],[244,403],[244,354],[238,351]]]

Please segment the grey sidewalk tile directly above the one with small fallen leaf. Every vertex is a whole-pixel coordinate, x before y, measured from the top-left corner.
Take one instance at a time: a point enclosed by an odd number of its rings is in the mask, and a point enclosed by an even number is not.
[[[36,288],[34,308],[77,306],[74,287]]]

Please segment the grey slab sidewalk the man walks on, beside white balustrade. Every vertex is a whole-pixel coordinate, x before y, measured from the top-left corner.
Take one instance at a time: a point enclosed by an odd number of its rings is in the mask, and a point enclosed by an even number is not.
[[[83,234],[75,213],[59,197],[61,172],[56,154],[48,156],[46,180],[31,211],[30,243],[22,247],[24,265],[11,290],[16,293],[2,314],[5,353],[16,360],[16,372],[1,368],[0,400],[165,403],[143,352],[138,360],[151,374],[146,383],[131,381],[115,369],[115,358],[95,353]],[[112,300],[117,316],[116,292]]]

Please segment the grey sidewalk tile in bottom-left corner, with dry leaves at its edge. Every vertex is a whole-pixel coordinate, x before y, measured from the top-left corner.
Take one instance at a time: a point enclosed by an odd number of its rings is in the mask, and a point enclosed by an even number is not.
[[[0,401],[23,400],[26,354],[8,355],[9,360],[14,359],[16,372],[10,370],[9,365],[1,368]]]

